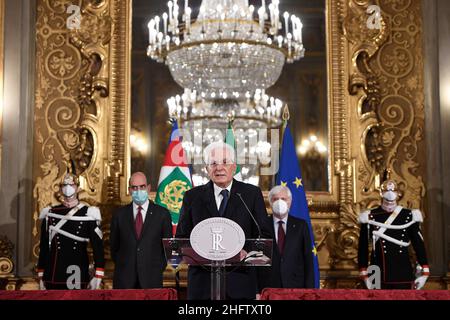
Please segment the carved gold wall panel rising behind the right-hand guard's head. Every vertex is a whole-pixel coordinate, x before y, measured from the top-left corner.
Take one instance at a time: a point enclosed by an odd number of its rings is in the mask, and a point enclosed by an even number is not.
[[[356,2],[356,1],[355,1]],[[386,32],[372,47],[353,35],[350,92],[358,99],[359,202],[378,199],[374,190],[384,169],[402,188],[402,204],[421,208],[425,195],[422,20],[420,1],[380,1]],[[357,48],[361,49],[357,49]],[[355,136],[357,138],[358,136]]]

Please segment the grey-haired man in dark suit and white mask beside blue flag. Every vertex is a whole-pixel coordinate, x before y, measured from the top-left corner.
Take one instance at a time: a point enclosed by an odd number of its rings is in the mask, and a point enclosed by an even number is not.
[[[291,191],[276,186],[269,192],[273,216],[268,217],[275,235],[272,266],[259,269],[260,290],[264,288],[314,288],[311,238],[306,222],[289,215]]]

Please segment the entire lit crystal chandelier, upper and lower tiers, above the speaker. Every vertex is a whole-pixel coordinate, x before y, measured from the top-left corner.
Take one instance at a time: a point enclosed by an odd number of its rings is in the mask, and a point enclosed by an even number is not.
[[[261,163],[256,158],[271,150],[264,130],[258,129],[280,127],[284,107],[265,91],[285,62],[304,56],[302,23],[288,12],[281,16],[279,0],[267,6],[261,0],[259,8],[248,0],[202,0],[195,19],[189,0],[182,13],[178,2],[169,1],[168,12],[148,23],[147,55],[165,63],[184,88],[167,100],[169,116],[191,133],[191,139],[183,138],[189,157],[201,156],[233,120],[236,142],[245,144],[241,151],[249,160],[242,166],[243,180],[258,184]],[[192,168],[195,185],[207,181],[203,165]]]

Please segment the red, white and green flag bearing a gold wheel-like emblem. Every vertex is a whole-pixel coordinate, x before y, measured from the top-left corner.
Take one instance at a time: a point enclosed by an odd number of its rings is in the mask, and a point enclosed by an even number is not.
[[[175,234],[184,193],[192,188],[192,178],[186,155],[178,135],[178,124],[172,124],[171,138],[163,166],[159,174],[155,203],[169,210],[172,216],[172,232]]]

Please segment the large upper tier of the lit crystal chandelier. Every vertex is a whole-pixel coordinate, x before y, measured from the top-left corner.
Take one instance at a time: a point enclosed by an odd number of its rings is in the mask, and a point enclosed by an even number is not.
[[[262,0],[258,10],[248,0],[203,0],[196,19],[188,0],[183,14],[177,0],[167,6],[168,13],[148,24],[147,54],[165,62],[181,87],[205,98],[244,100],[272,86],[285,61],[304,55],[302,23],[288,12],[281,17],[279,0],[267,7]]]

